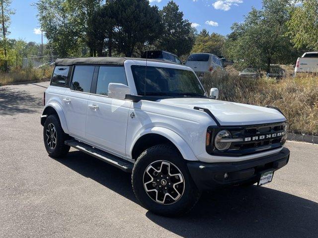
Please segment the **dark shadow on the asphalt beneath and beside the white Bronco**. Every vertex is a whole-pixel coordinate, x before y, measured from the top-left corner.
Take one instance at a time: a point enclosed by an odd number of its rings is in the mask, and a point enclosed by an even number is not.
[[[82,152],[57,160],[138,203],[130,174]],[[231,187],[203,193],[192,211],[166,218],[147,212],[148,219],[185,238],[317,238],[318,203],[268,187]]]

